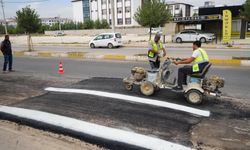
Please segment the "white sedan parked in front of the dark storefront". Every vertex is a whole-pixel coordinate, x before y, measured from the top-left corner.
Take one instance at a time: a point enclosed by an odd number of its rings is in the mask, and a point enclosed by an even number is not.
[[[184,30],[180,33],[177,33],[173,37],[173,42],[182,43],[182,42],[194,42],[201,41],[202,43],[212,42],[215,39],[213,33],[203,33],[200,30]]]

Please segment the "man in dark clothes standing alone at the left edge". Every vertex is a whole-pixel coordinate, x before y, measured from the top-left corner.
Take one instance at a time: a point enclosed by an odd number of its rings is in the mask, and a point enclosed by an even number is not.
[[[4,56],[3,73],[7,72],[7,66],[10,72],[13,71],[12,70],[13,56],[12,56],[12,48],[11,48],[11,42],[9,40],[9,35],[5,35],[4,37],[4,41],[2,41],[1,43],[1,51]]]

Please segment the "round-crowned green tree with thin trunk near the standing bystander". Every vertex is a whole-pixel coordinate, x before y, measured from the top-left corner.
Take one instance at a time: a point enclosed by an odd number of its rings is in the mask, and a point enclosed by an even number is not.
[[[28,34],[28,49],[32,51],[31,33],[37,33],[42,27],[41,20],[37,12],[26,6],[16,12],[17,27]]]

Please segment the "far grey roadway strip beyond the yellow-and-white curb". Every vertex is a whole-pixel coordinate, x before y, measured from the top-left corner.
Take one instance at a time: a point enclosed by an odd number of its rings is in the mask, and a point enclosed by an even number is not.
[[[13,45],[15,51],[27,50],[25,45]],[[56,52],[87,52],[87,53],[101,53],[101,54],[118,54],[118,55],[137,55],[146,54],[146,48],[118,48],[118,49],[107,49],[107,48],[95,48],[90,49],[80,46],[72,45],[36,45],[34,46],[36,51],[56,51]],[[206,49],[210,58],[218,59],[231,59],[232,57],[250,57],[250,50],[248,49]],[[187,57],[192,54],[191,45],[190,48],[167,48],[167,56],[169,57]]]

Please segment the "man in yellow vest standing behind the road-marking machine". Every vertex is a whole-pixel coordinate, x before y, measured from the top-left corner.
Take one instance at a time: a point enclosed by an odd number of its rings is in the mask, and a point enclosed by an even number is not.
[[[157,33],[154,40],[149,41],[148,48],[148,60],[152,69],[160,68],[160,56],[161,50],[163,51],[163,57],[166,56],[166,50],[163,47],[162,42],[160,41],[161,34]]]

